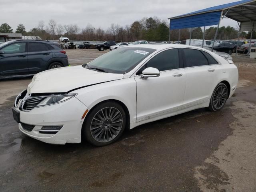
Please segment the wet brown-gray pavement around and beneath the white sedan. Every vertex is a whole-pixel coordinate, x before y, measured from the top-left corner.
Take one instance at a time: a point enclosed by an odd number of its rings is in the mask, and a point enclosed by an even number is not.
[[[239,71],[239,88],[222,110],[144,124],[100,148],[19,132],[14,94],[31,78],[1,81],[0,191],[255,192],[256,70]]]

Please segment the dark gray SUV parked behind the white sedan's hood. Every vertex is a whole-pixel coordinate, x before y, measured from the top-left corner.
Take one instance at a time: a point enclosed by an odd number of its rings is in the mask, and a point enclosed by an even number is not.
[[[59,44],[44,40],[13,40],[0,44],[0,78],[68,66]]]

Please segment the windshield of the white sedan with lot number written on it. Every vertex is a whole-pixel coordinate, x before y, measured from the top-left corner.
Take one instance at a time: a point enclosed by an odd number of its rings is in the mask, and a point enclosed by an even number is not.
[[[124,74],[137,66],[144,58],[156,51],[150,48],[125,47],[108,52],[93,60],[85,68],[102,72]]]

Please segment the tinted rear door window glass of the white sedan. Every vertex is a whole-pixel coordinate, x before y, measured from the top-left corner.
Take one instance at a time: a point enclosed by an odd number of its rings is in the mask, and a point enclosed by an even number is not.
[[[200,50],[183,49],[183,52],[186,60],[185,67],[196,67],[196,66],[208,65],[208,60]]]

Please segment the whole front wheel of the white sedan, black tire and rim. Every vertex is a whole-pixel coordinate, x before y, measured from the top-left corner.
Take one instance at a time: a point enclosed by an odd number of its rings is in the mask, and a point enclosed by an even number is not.
[[[118,140],[126,126],[124,109],[116,102],[104,102],[86,117],[82,136],[95,146],[105,146]]]

